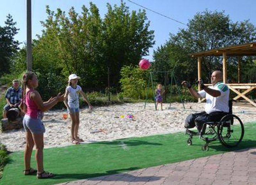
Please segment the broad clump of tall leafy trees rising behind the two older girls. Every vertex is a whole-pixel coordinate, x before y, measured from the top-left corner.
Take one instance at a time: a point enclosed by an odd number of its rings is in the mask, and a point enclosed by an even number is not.
[[[52,88],[47,87],[48,73],[63,79],[75,73],[81,77],[81,87],[93,91],[107,86],[110,68],[110,86],[116,87],[122,66],[137,64],[148,54],[154,44],[154,31],[149,30],[145,11],[130,12],[124,2],[113,7],[107,4],[107,8],[101,18],[92,2],[88,8],[82,6],[81,13],[74,7],[68,12],[46,7],[42,35],[32,45],[33,69],[41,74],[43,97],[49,95],[46,88]],[[16,55],[15,72],[26,69],[25,51],[26,47]]]

